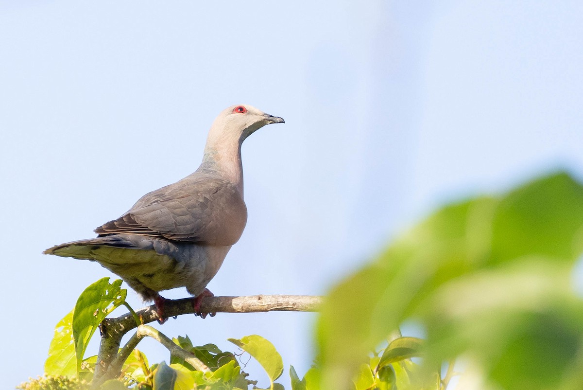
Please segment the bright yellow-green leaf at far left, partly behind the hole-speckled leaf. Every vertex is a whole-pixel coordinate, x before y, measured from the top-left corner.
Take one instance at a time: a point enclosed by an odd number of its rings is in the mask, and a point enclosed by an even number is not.
[[[77,374],[72,321],[73,311],[64,316],[55,326],[55,335],[48,347],[48,357],[44,363],[44,372],[47,375],[75,377]]]

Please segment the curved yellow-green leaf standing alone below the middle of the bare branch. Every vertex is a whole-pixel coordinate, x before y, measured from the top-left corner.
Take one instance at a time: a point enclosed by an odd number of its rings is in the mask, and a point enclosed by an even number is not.
[[[283,360],[269,340],[258,335],[250,335],[238,339],[228,339],[231,343],[243,349],[255,358],[264,368],[273,385],[283,372]]]

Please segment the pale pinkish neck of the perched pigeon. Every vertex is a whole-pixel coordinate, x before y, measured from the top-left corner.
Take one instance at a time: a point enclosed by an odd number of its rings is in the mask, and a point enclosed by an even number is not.
[[[243,197],[243,163],[240,140],[206,141],[205,152],[199,172],[219,175],[237,187]]]

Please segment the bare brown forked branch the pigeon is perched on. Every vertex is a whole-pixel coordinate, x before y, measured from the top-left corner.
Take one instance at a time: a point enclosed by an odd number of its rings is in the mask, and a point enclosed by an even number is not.
[[[193,298],[181,300],[166,300],[164,302],[164,315],[174,317],[182,314],[195,314]],[[258,313],[268,311],[317,311],[322,304],[322,297],[313,295],[251,295],[248,297],[206,297],[201,301],[201,311],[206,313]],[[159,319],[154,305],[136,311],[142,323],[150,323]],[[129,353],[135,348],[139,340],[144,336],[154,337],[148,333],[150,326],[139,326],[138,332],[132,336],[119,353],[121,338],[130,330],[138,327],[131,313],[118,318],[106,318],[101,322],[101,344],[97,365],[95,367],[95,379],[107,379],[117,375]],[[161,335],[163,336],[163,335]],[[166,336],[164,336],[166,337]],[[157,339],[156,337],[154,337]],[[167,340],[170,340],[166,337]],[[157,339],[158,340],[158,339]],[[162,344],[166,344],[159,340]],[[171,340],[170,343],[175,345]],[[168,346],[166,346],[168,347]],[[182,350],[184,351],[184,350]],[[180,352],[178,352],[180,353]],[[178,356],[178,355],[177,355]],[[111,370],[109,369],[111,365]],[[196,365],[192,364],[194,367]],[[107,374],[106,374],[107,372]],[[94,382],[100,382],[101,380]]]

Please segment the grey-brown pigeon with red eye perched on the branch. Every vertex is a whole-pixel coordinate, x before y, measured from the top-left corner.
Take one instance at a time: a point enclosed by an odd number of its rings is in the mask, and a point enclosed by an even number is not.
[[[121,217],[96,228],[96,238],[62,243],[43,253],[91,260],[117,274],[143,301],[153,301],[159,322],[160,291],[186,287],[195,312],[206,288],[247,223],[241,144],[261,127],[285,123],[250,105],[224,109],[210,127],[202,163],[194,173],[142,196]]]

